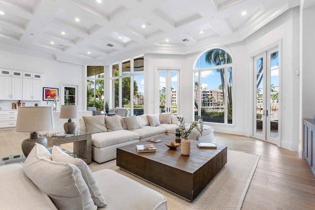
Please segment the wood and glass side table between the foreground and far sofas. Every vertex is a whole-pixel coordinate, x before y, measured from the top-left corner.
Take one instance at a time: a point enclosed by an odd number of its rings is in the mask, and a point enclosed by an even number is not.
[[[48,141],[47,147],[60,146],[73,142],[73,153],[84,160],[87,164],[92,163],[92,134],[84,131],[76,131],[73,136],[54,137],[44,134]]]

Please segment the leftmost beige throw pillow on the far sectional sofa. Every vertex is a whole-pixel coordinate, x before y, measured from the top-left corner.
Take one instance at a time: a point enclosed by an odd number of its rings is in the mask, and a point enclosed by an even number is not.
[[[87,127],[88,133],[107,132],[104,116],[102,115],[83,116],[83,120]]]

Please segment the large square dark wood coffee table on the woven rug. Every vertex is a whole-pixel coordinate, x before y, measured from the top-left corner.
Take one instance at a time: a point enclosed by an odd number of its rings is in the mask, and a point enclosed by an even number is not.
[[[170,150],[165,144],[173,136],[161,136],[162,142],[138,142],[117,148],[117,166],[157,184],[190,202],[204,189],[227,161],[227,147],[198,148],[190,140],[190,155],[181,154],[181,147]],[[136,145],[154,144],[156,152],[137,153]]]

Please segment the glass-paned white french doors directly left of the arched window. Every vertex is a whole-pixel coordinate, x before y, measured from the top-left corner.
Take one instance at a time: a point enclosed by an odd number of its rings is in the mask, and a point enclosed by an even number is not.
[[[179,70],[158,69],[158,104],[160,112],[179,113]]]

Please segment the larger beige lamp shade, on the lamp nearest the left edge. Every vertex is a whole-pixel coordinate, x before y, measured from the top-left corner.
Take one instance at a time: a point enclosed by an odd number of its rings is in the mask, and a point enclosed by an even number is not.
[[[36,132],[55,128],[53,107],[20,106],[16,121],[16,132]]]

